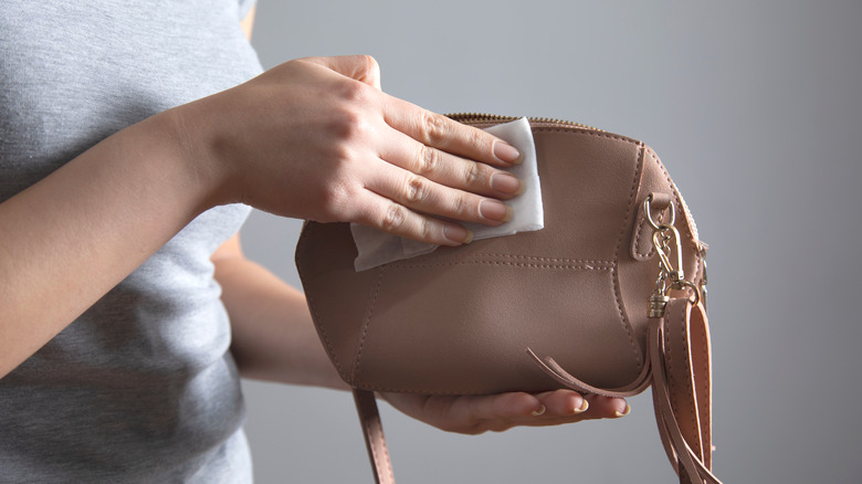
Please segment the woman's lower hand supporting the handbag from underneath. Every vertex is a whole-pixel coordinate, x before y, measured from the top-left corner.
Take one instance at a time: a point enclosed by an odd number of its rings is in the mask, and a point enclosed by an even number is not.
[[[629,414],[626,400],[596,394],[581,397],[571,390],[491,396],[419,396],[381,393],[401,412],[439,429],[479,434],[513,427],[557,425]]]

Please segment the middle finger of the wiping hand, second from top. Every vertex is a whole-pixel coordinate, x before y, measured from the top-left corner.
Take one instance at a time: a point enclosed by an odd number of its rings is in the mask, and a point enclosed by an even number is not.
[[[511,199],[524,190],[523,182],[512,173],[451,155],[417,143],[406,135],[388,143],[380,157],[392,165],[446,187],[500,199]]]

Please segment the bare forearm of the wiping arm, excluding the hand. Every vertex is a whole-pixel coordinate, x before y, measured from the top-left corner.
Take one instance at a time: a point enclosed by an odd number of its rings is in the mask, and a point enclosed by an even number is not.
[[[0,378],[207,208],[177,133],[145,120],[0,204]]]

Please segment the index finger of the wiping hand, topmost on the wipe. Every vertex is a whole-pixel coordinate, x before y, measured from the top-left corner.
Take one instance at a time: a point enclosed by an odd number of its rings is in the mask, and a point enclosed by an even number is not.
[[[521,161],[521,152],[508,143],[397,97],[383,97],[383,119],[423,145],[467,159],[497,167]]]

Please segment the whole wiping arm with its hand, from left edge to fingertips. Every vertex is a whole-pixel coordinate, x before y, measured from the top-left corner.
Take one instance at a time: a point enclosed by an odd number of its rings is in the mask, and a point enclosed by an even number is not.
[[[0,204],[0,377],[216,204],[442,245],[471,239],[451,220],[503,223],[500,199],[519,181],[493,167],[517,150],[366,82],[378,84],[370,57],[282,64],[126,128]]]

